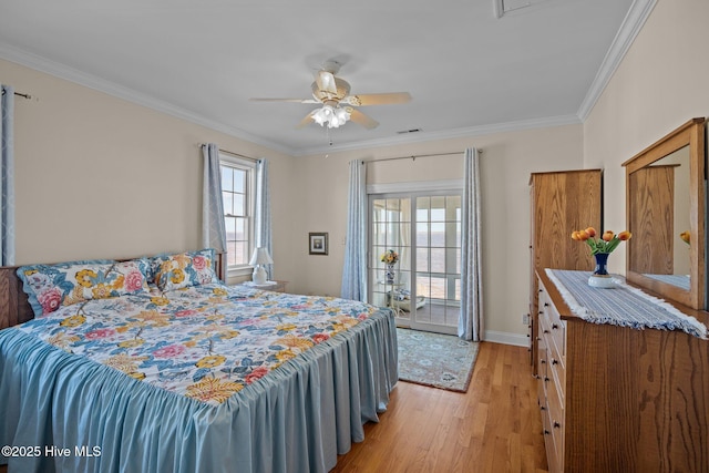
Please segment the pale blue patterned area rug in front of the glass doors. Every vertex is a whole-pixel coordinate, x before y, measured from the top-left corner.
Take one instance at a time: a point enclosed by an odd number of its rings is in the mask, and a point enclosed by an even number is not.
[[[466,392],[479,343],[450,335],[397,329],[399,379]]]

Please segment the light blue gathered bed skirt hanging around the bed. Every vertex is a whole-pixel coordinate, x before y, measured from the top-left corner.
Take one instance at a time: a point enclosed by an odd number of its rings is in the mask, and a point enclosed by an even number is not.
[[[398,380],[389,309],[217,407],[0,331],[0,464],[14,472],[327,472]],[[21,453],[21,455],[20,455]]]

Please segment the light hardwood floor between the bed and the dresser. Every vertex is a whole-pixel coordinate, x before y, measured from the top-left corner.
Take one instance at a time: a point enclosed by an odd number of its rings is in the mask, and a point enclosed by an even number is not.
[[[526,348],[482,342],[466,393],[400,381],[332,472],[546,472]]]

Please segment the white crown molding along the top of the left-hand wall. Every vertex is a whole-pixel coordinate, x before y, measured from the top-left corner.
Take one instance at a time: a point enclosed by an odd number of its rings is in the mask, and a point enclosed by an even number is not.
[[[280,153],[289,155],[294,154],[294,150],[284,147],[277,143],[263,140],[242,130],[225,125],[214,120],[206,119],[199,114],[157,100],[150,95],[142,94],[137,91],[134,91],[133,89],[124,88],[105,79],[86,74],[85,72],[2,42],[0,42],[0,59],[24,65],[35,71],[44,72],[59,79],[74,82],[79,85],[83,85],[89,89],[93,89],[95,91],[123,99],[136,105],[145,106],[147,109],[165,113],[167,115],[194,123],[196,125],[205,126],[209,130],[214,130],[216,132],[220,132],[239,140],[245,140],[250,143],[268,147],[269,150],[278,151]]]

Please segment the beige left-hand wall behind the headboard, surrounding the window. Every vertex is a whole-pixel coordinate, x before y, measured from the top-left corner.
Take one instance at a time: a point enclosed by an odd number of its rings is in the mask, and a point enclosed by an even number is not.
[[[268,157],[276,276],[290,278],[289,156],[0,60],[16,101],[17,264],[201,246],[198,143]]]

